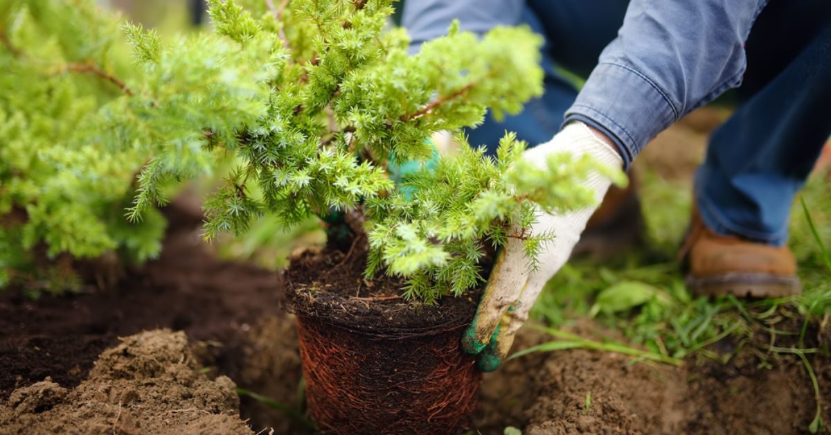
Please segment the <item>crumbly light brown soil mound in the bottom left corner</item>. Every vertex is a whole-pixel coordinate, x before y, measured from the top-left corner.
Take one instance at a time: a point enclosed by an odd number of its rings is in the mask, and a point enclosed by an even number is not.
[[[51,378],[0,405],[3,433],[252,433],[231,379],[209,380],[183,332],[122,339],[71,391]]]

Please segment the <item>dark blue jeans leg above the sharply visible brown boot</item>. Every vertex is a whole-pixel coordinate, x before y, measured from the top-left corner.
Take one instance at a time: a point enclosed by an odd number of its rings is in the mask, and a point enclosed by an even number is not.
[[[770,7],[802,3],[829,7],[819,1],[771,2]],[[765,25],[762,15],[770,22],[784,17],[775,7],[760,15],[760,28],[755,26],[748,40],[745,73],[745,83],[755,93],[714,132],[696,174],[701,218],[717,233],[784,245],[794,196],[831,135],[831,13],[801,12],[793,33],[787,22]],[[810,39],[797,40],[789,50],[788,39],[804,37],[806,23],[812,21],[816,26]],[[762,56],[765,50],[774,55],[769,62]],[[761,54],[755,57],[754,52]],[[777,59],[785,65],[771,73]]]

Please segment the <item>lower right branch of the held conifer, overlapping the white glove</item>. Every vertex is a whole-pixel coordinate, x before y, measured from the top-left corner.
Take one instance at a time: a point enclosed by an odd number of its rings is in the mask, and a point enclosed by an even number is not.
[[[499,248],[509,237],[524,240],[533,267],[553,236],[527,235],[538,209],[591,205],[593,193],[579,181],[602,171],[593,161],[564,155],[538,168],[521,159],[525,145],[513,134],[500,141],[496,159],[467,146],[463,136],[457,141],[457,154],[408,175],[404,189],[366,200],[372,218],[367,276],[386,265],[387,273],[409,279],[406,296],[428,302],[443,294],[437,289],[460,295],[481,283],[486,243]]]

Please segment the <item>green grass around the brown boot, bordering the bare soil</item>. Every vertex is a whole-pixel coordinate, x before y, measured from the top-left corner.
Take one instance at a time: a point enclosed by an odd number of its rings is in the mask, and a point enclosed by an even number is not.
[[[553,341],[518,349],[511,358],[590,348],[662,363],[677,364],[684,358],[724,363],[739,348],[759,338],[755,334],[765,334],[765,339],[771,340],[767,348],[752,349],[760,367],[770,368],[771,361],[779,358],[794,358],[804,364],[817,403],[809,432],[822,430],[819,383],[806,355],[827,356],[829,348],[828,344],[806,348],[805,342],[809,324],[822,328],[831,315],[831,253],[825,246],[831,240],[831,195],[825,174],[809,180],[791,212],[789,245],[799,263],[803,294],[755,301],[733,296],[695,298],[687,291],[676,252],[688,222],[690,187],[649,174],[643,181],[642,202],[649,205],[645,215],[647,248],[604,263],[573,260],[564,266],[548,282],[531,313],[533,319],[549,327],[530,327],[543,329]],[[621,331],[626,343],[604,336],[586,339],[563,331],[585,318]],[[793,337],[798,337],[798,344],[793,344]],[[722,354],[711,347],[725,338],[735,344],[732,352]],[[790,345],[776,344],[775,340],[785,338],[791,338],[785,340]]]

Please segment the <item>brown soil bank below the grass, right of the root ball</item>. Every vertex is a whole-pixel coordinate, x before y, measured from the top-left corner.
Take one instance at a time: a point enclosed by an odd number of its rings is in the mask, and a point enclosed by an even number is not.
[[[514,349],[549,340],[520,329]],[[532,353],[485,373],[474,428],[501,434],[514,426],[527,435],[807,432],[816,402],[804,366],[795,358],[763,366],[758,355],[746,348],[726,363],[688,358],[676,368],[579,349]],[[828,397],[828,357],[810,362]]]

